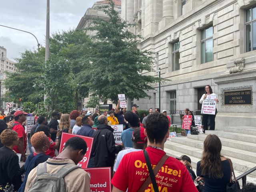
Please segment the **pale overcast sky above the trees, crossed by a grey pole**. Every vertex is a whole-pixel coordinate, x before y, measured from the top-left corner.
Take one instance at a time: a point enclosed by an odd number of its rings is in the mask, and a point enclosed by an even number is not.
[[[87,8],[99,0],[50,0],[50,34],[76,28]],[[45,46],[46,0],[2,0],[0,24],[33,33]],[[36,49],[36,39],[28,33],[0,26],[0,46],[11,60],[25,49]]]

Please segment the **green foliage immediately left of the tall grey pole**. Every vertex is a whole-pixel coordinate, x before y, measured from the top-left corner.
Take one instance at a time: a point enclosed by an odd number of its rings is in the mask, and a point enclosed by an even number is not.
[[[44,74],[45,49],[26,50],[16,59],[16,72],[6,72],[4,86],[8,89],[6,97],[14,102],[22,98],[24,102],[37,104],[43,100],[44,88],[40,82]],[[10,101],[10,100],[9,100]]]

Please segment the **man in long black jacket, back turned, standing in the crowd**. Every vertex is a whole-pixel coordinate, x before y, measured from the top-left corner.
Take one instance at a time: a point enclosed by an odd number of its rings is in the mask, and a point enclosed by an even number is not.
[[[98,130],[96,130],[92,137],[94,138],[92,144],[92,157],[94,158],[95,167],[111,167],[113,170],[115,162],[115,154],[118,154],[123,148],[123,144],[115,146],[114,129],[108,125],[106,116],[101,115],[98,118]]]

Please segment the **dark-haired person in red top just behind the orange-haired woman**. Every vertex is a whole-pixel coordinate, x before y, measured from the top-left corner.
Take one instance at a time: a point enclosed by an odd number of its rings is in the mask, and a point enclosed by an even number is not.
[[[50,143],[49,145],[49,149],[45,150],[45,154],[49,155],[51,157],[54,157],[55,155],[55,149],[58,149],[60,146],[60,136],[61,136],[61,131],[58,130],[57,134],[56,134],[56,140],[55,142],[51,139],[51,134],[50,134],[50,129],[48,126],[46,125],[40,125],[37,129],[36,132],[44,132],[44,134],[48,137],[48,141]],[[32,144],[33,145],[33,144]]]

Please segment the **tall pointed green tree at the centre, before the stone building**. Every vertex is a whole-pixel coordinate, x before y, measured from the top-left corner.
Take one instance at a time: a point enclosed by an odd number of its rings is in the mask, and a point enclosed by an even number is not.
[[[150,97],[146,92],[152,90],[152,84],[163,81],[158,77],[143,75],[153,71],[152,52],[137,47],[138,35],[129,31],[134,24],[121,20],[115,10],[114,2],[103,6],[109,20],[97,18],[88,30],[95,31],[92,36],[93,46],[90,57],[89,73],[90,93],[100,98],[109,98],[117,102],[117,94],[128,98]]]

